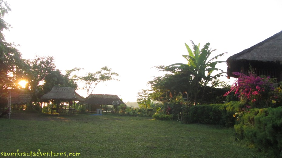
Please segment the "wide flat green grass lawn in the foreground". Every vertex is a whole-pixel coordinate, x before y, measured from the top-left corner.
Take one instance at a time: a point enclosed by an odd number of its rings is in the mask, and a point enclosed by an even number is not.
[[[80,153],[77,157],[83,158],[267,157],[235,141],[233,128],[112,114],[33,114],[28,120],[13,119],[13,115],[11,120],[0,119],[0,153],[40,150]]]

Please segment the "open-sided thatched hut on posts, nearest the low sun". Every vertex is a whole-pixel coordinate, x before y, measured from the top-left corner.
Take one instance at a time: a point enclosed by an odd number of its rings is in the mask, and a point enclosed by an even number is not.
[[[71,87],[53,87],[50,92],[47,94],[44,94],[41,97],[42,101],[51,101],[52,102],[52,109],[51,113],[53,113],[53,110],[68,110],[69,112],[72,110],[73,113],[75,111],[75,101],[84,102],[85,99],[76,93],[74,88]],[[53,103],[56,103],[56,107],[53,107]],[[65,106],[63,108],[63,105],[59,106],[60,103],[69,103],[69,107]],[[73,106],[71,108],[71,106]]]

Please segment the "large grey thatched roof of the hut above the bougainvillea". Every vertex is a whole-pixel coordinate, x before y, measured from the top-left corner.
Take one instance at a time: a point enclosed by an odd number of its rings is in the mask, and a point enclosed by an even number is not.
[[[282,63],[282,31],[257,43],[256,45],[243,50],[227,59],[227,76],[232,72],[240,72],[241,65],[250,62],[257,64]]]

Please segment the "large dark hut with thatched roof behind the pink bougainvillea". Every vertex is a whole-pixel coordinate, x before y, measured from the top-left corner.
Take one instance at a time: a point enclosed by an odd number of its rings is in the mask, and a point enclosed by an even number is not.
[[[282,81],[282,31],[227,59],[227,78],[238,76],[233,72],[248,74],[251,68],[259,75]]]

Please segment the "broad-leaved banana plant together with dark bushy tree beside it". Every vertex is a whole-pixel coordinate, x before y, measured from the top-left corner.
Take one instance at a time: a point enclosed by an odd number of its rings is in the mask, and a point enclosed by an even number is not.
[[[168,92],[183,93],[183,89],[186,89],[185,91],[189,92],[188,94],[190,97],[193,96],[193,102],[194,104],[196,104],[199,92],[202,93],[203,98],[203,94],[205,93],[205,89],[208,84],[211,84],[211,87],[217,86],[219,82],[212,81],[217,79],[217,77],[222,76],[222,74],[225,72],[223,72],[223,70],[219,68],[215,68],[215,66],[218,63],[222,63],[225,61],[213,62],[213,60],[224,55],[225,53],[217,55],[208,60],[210,54],[215,51],[209,49],[210,43],[206,43],[204,47],[200,50],[200,43],[198,46],[196,46],[193,41],[191,42],[193,44],[193,52],[190,47],[185,43],[188,55],[182,55],[187,60],[187,64],[176,63],[169,66],[156,67],[160,71],[169,72],[169,74],[166,74],[162,77],[157,77],[154,81],[149,82],[154,92],[156,92],[158,89],[163,88],[161,92],[163,94],[161,95],[162,97],[164,97],[164,92],[166,93],[166,95]],[[212,73],[214,71],[221,72],[213,75]]]

